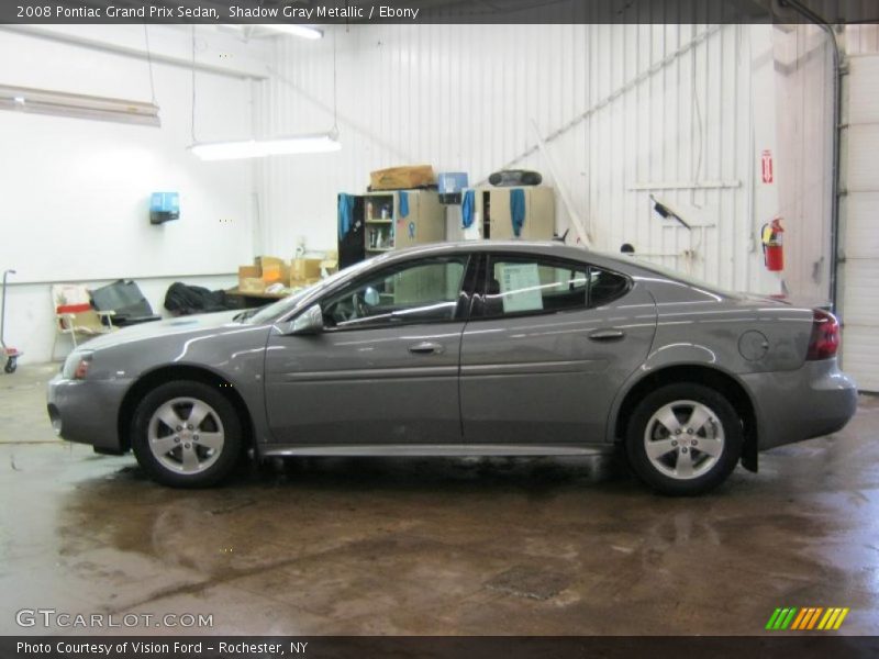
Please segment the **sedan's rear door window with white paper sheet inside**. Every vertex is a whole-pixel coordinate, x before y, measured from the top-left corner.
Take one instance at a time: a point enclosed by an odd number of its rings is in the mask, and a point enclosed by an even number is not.
[[[628,291],[628,280],[586,264],[492,256],[483,316],[497,317],[602,306]]]

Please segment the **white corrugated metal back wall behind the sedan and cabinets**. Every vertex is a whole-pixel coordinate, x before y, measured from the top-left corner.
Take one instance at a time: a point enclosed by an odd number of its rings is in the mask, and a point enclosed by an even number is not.
[[[479,181],[512,164],[564,185],[600,248],[631,242],[723,287],[767,289],[752,98],[753,53],[772,66],[767,26],[391,25],[281,38],[275,77],[257,90],[259,133],[332,126],[334,42],[343,150],[257,165],[263,250],[287,255],[297,236],[332,247],[336,193],[365,190],[372,169],[430,163]],[[713,226],[659,220],[650,188]]]

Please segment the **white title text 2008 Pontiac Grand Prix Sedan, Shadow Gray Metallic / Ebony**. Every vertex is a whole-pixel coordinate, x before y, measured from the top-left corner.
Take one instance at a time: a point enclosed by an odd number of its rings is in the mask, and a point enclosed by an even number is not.
[[[34,4],[19,5],[18,16],[23,19],[294,19],[300,21],[314,21],[319,19],[418,19],[420,9],[407,7],[389,7],[387,4],[371,4],[358,7],[238,7],[232,4],[226,10],[226,15],[215,7],[158,7],[143,4],[141,7],[87,7],[69,4]]]

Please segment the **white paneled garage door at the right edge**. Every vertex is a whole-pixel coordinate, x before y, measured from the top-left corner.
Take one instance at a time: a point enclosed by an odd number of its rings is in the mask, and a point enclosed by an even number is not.
[[[843,152],[843,367],[879,391],[879,56],[850,59]]]

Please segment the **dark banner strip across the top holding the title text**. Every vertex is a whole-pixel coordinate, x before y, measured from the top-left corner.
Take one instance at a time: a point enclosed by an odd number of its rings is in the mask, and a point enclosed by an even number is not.
[[[2,0],[0,23],[871,23],[850,0]]]

